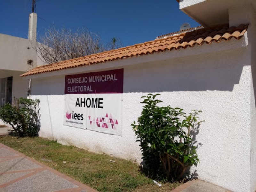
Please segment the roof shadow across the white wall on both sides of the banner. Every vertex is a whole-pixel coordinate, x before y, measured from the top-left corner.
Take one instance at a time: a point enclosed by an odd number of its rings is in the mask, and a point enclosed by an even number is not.
[[[244,65],[242,61],[235,62],[234,58],[221,58],[216,59],[218,61],[208,61],[207,56],[202,55],[196,59],[163,60],[124,67],[124,93],[207,90],[232,92],[234,85],[240,81]],[[64,82],[65,76],[35,79],[32,81],[32,95],[64,95]]]

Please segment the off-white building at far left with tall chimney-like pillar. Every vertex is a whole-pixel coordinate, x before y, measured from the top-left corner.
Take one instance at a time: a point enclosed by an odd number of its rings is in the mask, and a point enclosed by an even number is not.
[[[32,48],[36,41],[36,13],[29,15],[28,39],[0,34],[0,107],[14,97],[27,97],[29,80],[20,77],[42,61]]]

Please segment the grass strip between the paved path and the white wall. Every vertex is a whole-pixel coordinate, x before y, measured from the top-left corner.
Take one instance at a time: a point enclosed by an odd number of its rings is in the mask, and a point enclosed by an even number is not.
[[[139,166],[131,161],[61,145],[52,140],[4,136],[0,137],[0,142],[98,191],[170,191],[180,185],[165,183],[158,187],[140,174]]]

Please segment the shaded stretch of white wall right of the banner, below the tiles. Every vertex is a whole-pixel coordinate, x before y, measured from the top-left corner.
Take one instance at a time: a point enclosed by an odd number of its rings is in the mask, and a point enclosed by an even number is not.
[[[198,58],[198,64],[173,60],[124,69],[124,92],[230,91],[239,83],[243,65]]]

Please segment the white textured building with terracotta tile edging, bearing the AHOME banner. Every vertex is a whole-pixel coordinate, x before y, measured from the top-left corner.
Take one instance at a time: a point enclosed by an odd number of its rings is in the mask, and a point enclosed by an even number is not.
[[[253,192],[256,1],[180,0],[180,9],[204,28],[24,73],[24,79],[32,79],[31,98],[41,101],[39,135],[140,162],[131,123],[140,116],[140,97],[161,93],[159,99],[167,105],[203,111],[205,122],[196,135],[203,144],[198,148],[200,163],[192,168],[198,178],[229,190]],[[64,125],[71,118],[67,116],[71,113],[65,117],[67,75],[120,68],[124,69],[121,136]]]

